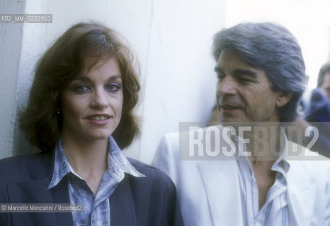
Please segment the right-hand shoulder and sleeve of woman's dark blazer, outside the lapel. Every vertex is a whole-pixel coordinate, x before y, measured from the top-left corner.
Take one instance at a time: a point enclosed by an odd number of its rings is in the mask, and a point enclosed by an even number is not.
[[[126,177],[135,203],[137,221],[140,222],[138,225],[183,225],[176,187],[171,179],[156,167],[127,159],[145,176]],[[146,219],[148,223],[145,222]]]

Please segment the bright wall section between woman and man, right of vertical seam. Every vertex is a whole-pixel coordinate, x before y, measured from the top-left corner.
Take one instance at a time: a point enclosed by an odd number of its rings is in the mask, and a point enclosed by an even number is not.
[[[222,1],[154,1],[138,158],[152,160],[179,121],[207,121],[215,103],[212,35],[224,25]]]

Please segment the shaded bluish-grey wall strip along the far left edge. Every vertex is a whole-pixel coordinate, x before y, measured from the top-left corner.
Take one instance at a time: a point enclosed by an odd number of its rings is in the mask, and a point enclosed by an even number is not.
[[[23,13],[24,6],[24,1],[0,1],[0,13]],[[0,158],[11,156],[13,148],[22,39],[22,24],[0,23]]]

